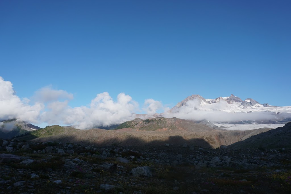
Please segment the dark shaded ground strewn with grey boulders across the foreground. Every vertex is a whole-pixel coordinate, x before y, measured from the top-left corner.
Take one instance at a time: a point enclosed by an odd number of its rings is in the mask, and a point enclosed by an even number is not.
[[[0,140],[1,193],[291,193],[291,149]]]

